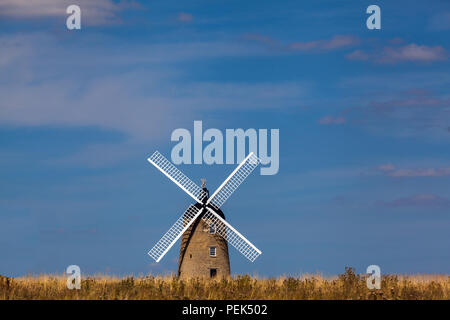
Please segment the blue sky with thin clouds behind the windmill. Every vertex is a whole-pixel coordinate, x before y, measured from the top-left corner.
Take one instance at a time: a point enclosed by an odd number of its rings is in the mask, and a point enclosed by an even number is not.
[[[194,120],[280,129],[223,207],[263,251],[233,273],[448,273],[449,35],[438,0],[0,0],[0,274],[176,271],[146,253],[190,200],[146,157]]]

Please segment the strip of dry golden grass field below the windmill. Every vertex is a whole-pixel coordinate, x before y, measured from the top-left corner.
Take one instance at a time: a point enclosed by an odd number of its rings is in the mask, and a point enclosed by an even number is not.
[[[449,275],[385,275],[380,290],[369,290],[364,275],[346,268],[336,277],[178,280],[171,276],[82,279],[80,290],[68,290],[64,276],[0,277],[1,299],[450,299]]]

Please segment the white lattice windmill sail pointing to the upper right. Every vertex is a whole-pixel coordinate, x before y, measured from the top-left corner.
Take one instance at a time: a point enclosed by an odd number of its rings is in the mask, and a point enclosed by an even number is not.
[[[207,204],[220,208],[231,194],[244,182],[244,180],[259,165],[260,160],[251,152],[236,169],[225,179],[219,188],[209,197]]]

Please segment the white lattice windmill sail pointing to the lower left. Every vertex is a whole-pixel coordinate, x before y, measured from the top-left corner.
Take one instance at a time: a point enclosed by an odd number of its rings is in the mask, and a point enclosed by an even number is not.
[[[178,218],[169,231],[167,231],[148,252],[149,256],[155,259],[156,262],[159,262],[198,216],[200,216],[202,211],[203,208],[197,208],[196,206],[191,205],[183,215]]]

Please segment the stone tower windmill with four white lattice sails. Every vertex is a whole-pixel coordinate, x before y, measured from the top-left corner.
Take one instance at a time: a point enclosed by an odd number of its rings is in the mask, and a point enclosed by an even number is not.
[[[253,152],[211,196],[205,187],[206,180],[202,179],[200,188],[158,151],[147,160],[195,200],[148,252],[150,257],[159,262],[182,237],[178,262],[180,277],[229,275],[228,244],[250,261],[255,261],[261,251],[225,221],[225,215],[220,210],[231,194],[259,165],[260,160]]]

